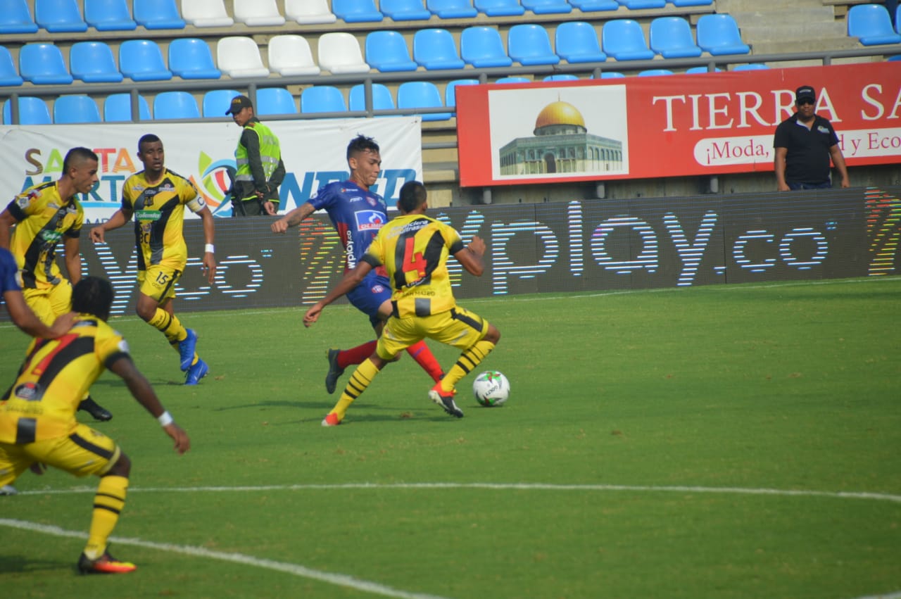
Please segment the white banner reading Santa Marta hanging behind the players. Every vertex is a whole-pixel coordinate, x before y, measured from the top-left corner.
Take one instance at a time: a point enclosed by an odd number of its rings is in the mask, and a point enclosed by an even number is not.
[[[396,204],[405,181],[423,180],[420,117],[270,121],[278,135],[287,175],[279,190],[281,211],[303,204],[317,189],[350,176],[347,144],[358,133],[381,148],[382,172],[373,191]],[[0,127],[0,210],[26,187],[56,180],[66,152],[77,146],[100,158],[100,182],[79,199],[86,222],[109,218],[118,208],[126,178],[143,169],[138,140],[153,133],[163,141],[166,167],[194,181],[216,216],[231,216],[224,202],[235,168],[234,150],[241,129],[234,123],[140,123],[8,125]],[[193,214],[192,214],[193,216]]]

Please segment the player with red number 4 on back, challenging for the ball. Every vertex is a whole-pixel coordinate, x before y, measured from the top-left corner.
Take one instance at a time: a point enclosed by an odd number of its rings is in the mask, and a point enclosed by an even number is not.
[[[429,391],[429,398],[451,416],[463,417],[453,401],[454,386],[485,359],[500,340],[500,331],[478,314],[457,305],[448,274],[449,256],[477,277],[483,271],[485,241],[474,237],[463,245],[460,233],[425,215],[429,207],[425,187],[408,181],[401,187],[397,207],[401,215],[384,225],[366,256],[338,285],[304,314],[305,326],[319,320],[323,308],[346,294],[372,268],[384,266],[394,287],[394,313],[378,338],[375,352],[354,370],[341,399],[326,414],[323,426],[341,424],[354,399],[399,352],[428,337],[461,349],[460,358]]]

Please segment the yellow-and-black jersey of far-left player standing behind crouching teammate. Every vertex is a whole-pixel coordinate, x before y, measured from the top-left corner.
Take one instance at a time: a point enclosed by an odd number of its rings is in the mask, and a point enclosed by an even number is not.
[[[63,237],[79,237],[85,211],[75,196],[59,197],[58,183],[29,187],[7,206],[17,221],[9,249],[22,270],[22,286],[41,289],[62,279],[56,248]]]

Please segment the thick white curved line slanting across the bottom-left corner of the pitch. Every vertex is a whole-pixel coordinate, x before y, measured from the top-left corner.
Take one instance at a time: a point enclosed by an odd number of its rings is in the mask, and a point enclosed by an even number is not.
[[[0,518],[0,526],[20,529],[23,531],[43,532],[55,537],[71,537],[75,539],[87,539],[85,532],[67,531],[59,528],[59,526],[48,526],[46,524],[37,524],[35,522],[25,522],[22,520],[9,520]],[[364,591],[372,594],[380,594],[386,597],[398,597],[399,599],[442,599],[442,597],[434,594],[418,594],[407,593],[396,588],[386,585],[369,582],[369,580],[360,580],[353,576],[343,574],[331,574],[314,570],[309,567],[298,566],[297,564],[287,564],[285,562],[273,561],[271,559],[254,558],[252,556],[242,555],[241,553],[223,553],[222,551],[211,551],[203,547],[191,547],[189,545],[171,545],[169,543],[155,543],[150,540],[141,539],[125,539],[123,537],[110,537],[110,542],[117,545],[131,545],[132,547],[142,547],[145,549],[159,549],[160,551],[168,551],[170,553],[181,553],[196,558],[220,559],[222,561],[230,561],[236,564],[244,564],[245,566],[264,567],[269,570],[277,570],[293,574],[294,576],[302,576],[304,578],[313,578],[332,585],[347,586],[358,591]]]

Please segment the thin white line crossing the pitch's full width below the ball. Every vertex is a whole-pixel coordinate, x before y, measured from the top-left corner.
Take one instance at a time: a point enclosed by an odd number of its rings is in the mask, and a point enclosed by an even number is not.
[[[304,491],[318,489],[498,489],[531,491],[641,491],[649,493],[711,493],[724,495],[781,495],[787,497],[832,497],[833,499],[871,499],[901,504],[901,495],[856,491],[805,491],[801,489],[744,488],[738,486],[641,486],[641,485],[548,485],[544,483],[345,483],[338,485],[262,485],[262,486],[131,486],[132,493],[227,493],[258,491]],[[68,489],[20,491],[19,495],[70,495],[96,493],[93,486]],[[899,598],[901,599],[901,598]]]

